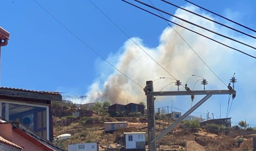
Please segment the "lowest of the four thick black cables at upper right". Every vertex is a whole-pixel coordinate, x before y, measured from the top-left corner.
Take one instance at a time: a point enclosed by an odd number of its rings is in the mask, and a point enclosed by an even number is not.
[[[146,10],[146,9],[143,9],[143,8],[137,6],[137,5],[134,5],[134,4],[132,4],[132,3],[130,3],[130,2],[127,2],[127,1],[125,1],[125,0],[121,0],[121,1],[123,1],[123,2],[125,2],[125,3],[128,3],[128,4],[130,4],[130,5],[134,6],[134,7],[137,7],[138,9],[142,9],[142,10],[144,10],[144,11],[146,11],[146,12],[152,14],[152,15],[155,15],[155,16],[159,17],[159,18],[162,18],[163,20],[167,20],[167,21],[169,21],[169,22],[171,22],[171,23],[173,23],[173,24],[175,24],[175,25],[177,25],[177,26],[180,26],[180,27],[182,27],[182,28],[185,28],[186,30],[189,30],[189,31],[191,31],[191,32],[194,32],[194,33],[196,33],[196,34],[198,34],[198,35],[200,35],[200,36],[203,36],[203,37],[205,37],[205,38],[208,38],[208,39],[210,39],[210,40],[212,40],[212,41],[214,41],[214,42],[216,42],[216,43],[218,43],[218,44],[222,44],[223,46],[226,46],[226,47],[228,47],[228,48],[230,48],[230,49],[236,50],[236,51],[238,51],[238,52],[241,52],[241,53],[243,53],[243,54],[245,54],[245,55],[248,55],[248,56],[250,56],[250,57],[256,59],[256,57],[253,56],[253,55],[249,55],[249,54],[247,54],[247,53],[245,53],[245,52],[243,52],[243,51],[241,51],[241,50],[239,50],[239,49],[233,48],[233,47],[231,47],[231,46],[229,46],[229,45],[226,45],[226,44],[223,44],[223,43],[221,43],[221,42],[219,42],[219,41],[217,41],[217,40],[215,40],[215,39],[213,39],[213,38],[210,38],[210,37],[207,37],[207,36],[205,36],[205,35],[203,35],[203,34],[201,34],[201,33],[195,32],[195,31],[193,31],[193,30],[191,30],[191,29],[189,29],[189,28],[186,28],[185,26],[182,26],[182,25],[180,25],[180,24],[178,24],[178,23],[175,23],[175,22],[173,22],[173,21],[171,21],[171,20],[168,20],[168,19],[166,19],[166,18],[164,18],[164,17],[162,17],[162,16],[156,15],[156,14],[154,14],[154,13],[152,13],[152,12]]]

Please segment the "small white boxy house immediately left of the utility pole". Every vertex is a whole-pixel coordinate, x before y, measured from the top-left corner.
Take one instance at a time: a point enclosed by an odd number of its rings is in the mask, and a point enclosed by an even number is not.
[[[125,134],[126,150],[145,149],[146,132],[128,132]]]

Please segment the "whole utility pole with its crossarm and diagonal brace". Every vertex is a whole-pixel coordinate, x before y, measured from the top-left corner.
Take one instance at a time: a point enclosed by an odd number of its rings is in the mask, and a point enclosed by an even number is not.
[[[196,90],[191,91],[153,91],[153,81],[147,81],[146,87],[144,88],[145,95],[147,96],[147,116],[148,116],[148,144],[149,151],[156,151],[156,142],[171,131],[177,124],[179,124],[183,119],[185,119],[189,114],[196,110],[200,105],[202,105],[207,99],[212,95],[229,94],[233,95],[235,98],[236,91],[229,87],[229,90]],[[184,113],[179,119],[177,119],[172,125],[169,125],[164,131],[162,131],[158,136],[155,136],[155,116],[154,116],[154,96],[185,96],[185,95],[206,95],[193,107],[191,107],[186,113]]]

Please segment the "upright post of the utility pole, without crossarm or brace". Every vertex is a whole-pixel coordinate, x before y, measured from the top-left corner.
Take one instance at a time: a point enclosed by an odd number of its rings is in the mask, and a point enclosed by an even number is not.
[[[153,92],[153,81],[146,82],[148,92]],[[154,96],[147,95],[147,116],[148,116],[148,144],[150,151],[156,151],[156,142],[152,142],[155,139],[155,105]]]

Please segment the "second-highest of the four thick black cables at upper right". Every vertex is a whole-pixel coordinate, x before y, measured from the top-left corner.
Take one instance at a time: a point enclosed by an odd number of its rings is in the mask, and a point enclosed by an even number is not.
[[[247,35],[247,36],[249,36],[249,37],[251,37],[251,38],[256,39],[256,37],[254,37],[254,36],[252,36],[252,35],[249,35],[249,34],[247,34],[247,33],[245,33],[245,32],[242,32],[242,31],[237,30],[237,29],[235,29],[235,28],[233,28],[233,27],[230,27],[230,26],[227,26],[227,25],[225,25],[225,24],[222,24],[222,23],[220,23],[220,22],[218,22],[218,21],[212,20],[212,19],[210,19],[210,18],[204,17],[203,15],[197,14],[197,13],[195,13],[195,12],[192,12],[192,11],[188,10],[188,9],[184,9],[184,8],[182,8],[182,7],[180,7],[180,6],[177,6],[177,5],[173,4],[173,3],[170,3],[170,2],[168,2],[168,1],[166,1],[166,0],[161,0],[161,1],[163,1],[163,2],[165,2],[165,3],[168,3],[168,4],[170,4],[170,5],[173,5],[173,6],[177,7],[177,8],[179,8],[179,9],[183,9],[183,10],[185,10],[185,11],[187,11],[187,12],[189,12],[189,13],[192,13],[192,14],[194,14],[194,15],[197,15],[197,16],[199,16],[199,17],[202,17],[202,18],[204,18],[204,19],[206,19],[206,20],[210,20],[210,21],[212,21],[212,22],[214,22],[214,23],[216,23],[216,24],[222,25],[222,26],[227,27],[227,28],[229,28],[229,29],[232,29],[232,30],[234,30],[234,31],[236,31],[236,32],[240,32],[240,33],[242,33],[242,34],[244,34],[244,35]]]

